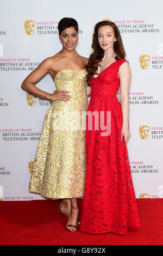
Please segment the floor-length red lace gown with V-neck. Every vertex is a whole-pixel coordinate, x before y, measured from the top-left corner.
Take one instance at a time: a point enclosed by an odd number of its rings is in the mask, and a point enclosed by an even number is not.
[[[86,178],[80,230],[86,233],[113,232],[124,235],[128,227],[139,228],[140,218],[131,180],[126,142],[121,141],[122,111],[116,94],[120,87],[121,58],[91,78],[88,112],[111,111],[111,133],[86,127]],[[100,118],[99,118],[100,119]],[[96,128],[96,129],[95,129]]]

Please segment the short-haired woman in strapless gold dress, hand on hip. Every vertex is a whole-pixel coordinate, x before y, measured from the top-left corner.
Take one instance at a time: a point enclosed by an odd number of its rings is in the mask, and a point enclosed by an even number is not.
[[[58,30],[62,50],[43,60],[21,86],[29,94],[52,101],[43,122],[29,191],[51,199],[62,199],[60,211],[68,218],[66,228],[76,231],[79,224],[78,198],[84,195],[86,170],[83,114],[87,111],[87,58],[76,52],[76,20],[62,19]],[[53,94],[35,86],[47,72],[57,88]]]

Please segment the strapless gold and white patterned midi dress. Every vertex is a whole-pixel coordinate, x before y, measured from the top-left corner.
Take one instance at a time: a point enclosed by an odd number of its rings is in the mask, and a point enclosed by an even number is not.
[[[37,147],[29,191],[43,197],[81,198],[85,181],[86,70],[64,69],[55,76],[70,101],[52,101]]]

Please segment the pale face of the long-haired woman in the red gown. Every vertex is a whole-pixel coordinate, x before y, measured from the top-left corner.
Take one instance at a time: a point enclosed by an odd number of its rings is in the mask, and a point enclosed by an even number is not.
[[[109,26],[101,26],[98,29],[98,42],[99,46],[105,51],[109,48],[113,48],[114,41],[116,41],[114,35],[114,29]]]

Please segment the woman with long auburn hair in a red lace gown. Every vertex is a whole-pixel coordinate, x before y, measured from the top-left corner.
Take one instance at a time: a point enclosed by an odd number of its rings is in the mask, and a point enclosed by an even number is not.
[[[97,23],[92,48],[87,65],[91,100],[80,230],[124,235],[128,227],[141,227],[126,147],[130,68],[115,23]],[[119,88],[121,103],[116,97]]]

